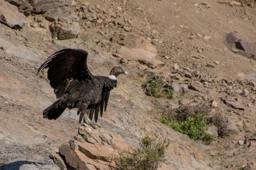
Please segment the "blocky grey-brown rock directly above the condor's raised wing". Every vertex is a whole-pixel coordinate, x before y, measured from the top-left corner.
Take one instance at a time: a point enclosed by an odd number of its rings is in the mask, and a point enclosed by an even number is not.
[[[77,38],[81,32],[78,22],[54,22],[50,26],[52,36],[58,40]]]

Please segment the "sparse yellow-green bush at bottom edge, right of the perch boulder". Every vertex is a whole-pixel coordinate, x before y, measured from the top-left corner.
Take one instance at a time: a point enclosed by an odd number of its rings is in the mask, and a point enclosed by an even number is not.
[[[146,135],[139,140],[139,148],[119,153],[115,170],[157,170],[164,161],[167,140]]]

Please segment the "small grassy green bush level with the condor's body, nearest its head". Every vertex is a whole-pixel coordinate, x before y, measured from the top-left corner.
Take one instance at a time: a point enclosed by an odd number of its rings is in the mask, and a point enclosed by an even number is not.
[[[166,97],[171,99],[173,97],[173,91],[171,85],[167,82],[164,82],[163,77],[153,76],[150,79],[147,79],[142,85],[146,95],[150,95],[156,98]]]

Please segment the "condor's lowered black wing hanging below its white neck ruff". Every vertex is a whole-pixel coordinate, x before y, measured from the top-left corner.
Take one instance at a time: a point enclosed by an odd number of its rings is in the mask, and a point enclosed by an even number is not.
[[[101,100],[96,106],[91,108],[89,113],[89,119],[92,120],[92,117],[94,115],[94,120],[95,122],[97,122],[99,112],[101,117],[103,114],[103,109],[106,112],[110,91],[117,86],[117,80],[109,79],[108,77],[104,77],[104,76],[95,76],[95,77],[100,77],[101,82],[103,84],[103,88],[101,92]]]

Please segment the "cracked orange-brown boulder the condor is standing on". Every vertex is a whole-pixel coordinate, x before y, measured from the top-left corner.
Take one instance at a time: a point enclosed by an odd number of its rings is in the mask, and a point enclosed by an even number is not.
[[[114,165],[112,159],[119,151],[129,148],[120,135],[83,124],[74,140],[61,145],[51,158],[61,170],[105,170]]]

